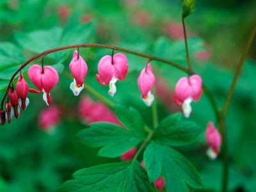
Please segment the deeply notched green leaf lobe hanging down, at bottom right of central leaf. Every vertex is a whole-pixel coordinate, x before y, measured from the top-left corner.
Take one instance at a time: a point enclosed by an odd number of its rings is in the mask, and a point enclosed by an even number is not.
[[[167,191],[189,191],[186,183],[202,188],[202,181],[193,164],[173,148],[150,143],[143,159],[150,182],[158,179],[163,171]]]

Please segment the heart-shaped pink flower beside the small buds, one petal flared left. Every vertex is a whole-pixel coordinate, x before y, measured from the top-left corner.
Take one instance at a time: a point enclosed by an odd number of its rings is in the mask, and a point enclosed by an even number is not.
[[[52,100],[50,97],[50,91],[59,81],[58,72],[50,67],[44,67],[44,72],[39,65],[32,65],[28,70],[28,77],[30,81],[40,90],[29,88],[31,93],[42,93],[44,92],[43,99],[47,105],[50,105]]]

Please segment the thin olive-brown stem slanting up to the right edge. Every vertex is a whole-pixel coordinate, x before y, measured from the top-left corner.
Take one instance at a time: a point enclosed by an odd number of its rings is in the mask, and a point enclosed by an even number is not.
[[[227,114],[228,105],[230,103],[232,94],[233,94],[234,89],[236,87],[237,79],[238,79],[239,74],[241,72],[241,68],[243,67],[243,63],[244,63],[244,60],[246,58],[246,54],[247,54],[247,52],[248,52],[248,50],[250,48],[250,45],[252,44],[252,40],[253,40],[253,36],[255,35],[255,32],[256,32],[256,22],[255,22],[255,24],[253,26],[253,29],[252,29],[252,32],[251,32],[251,34],[250,34],[250,36],[249,36],[249,38],[248,38],[248,40],[246,42],[246,45],[245,45],[245,48],[244,48],[244,52],[243,52],[243,54],[241,56],[241,59],[240,59],[239,64],[238,64],[238,67],[236,69],[236,74],[235,74],[235,76],[233,78],[233,81],[232,81],[232,84],[231,84],[231,86],[229,88],[228,95],[227,95],[227,98],[225,100],[225,103],[224,103],[224,106],[223,106],[223,110],[222,110],[222,114],[221,114],[224,117]]]

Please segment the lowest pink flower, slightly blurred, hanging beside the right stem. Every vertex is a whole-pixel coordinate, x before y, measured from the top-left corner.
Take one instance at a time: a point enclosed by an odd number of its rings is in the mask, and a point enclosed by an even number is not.
[[[214,160],[220,153],[222,141],[221,134],[212,122],[208,122],[204,136],[207,144],[209,145],[206,154],[211,160]]]

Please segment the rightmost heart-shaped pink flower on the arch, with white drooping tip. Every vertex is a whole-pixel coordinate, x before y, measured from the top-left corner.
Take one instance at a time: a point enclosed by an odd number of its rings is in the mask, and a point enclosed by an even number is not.
[[[173,99],[175,102],[182,106],[184,116],[189,117],[192,108],[190,103],[197,102],[202,95],[202,79],[198,75],[191,77],[182,77],[179,79],[175,86],[175,93]]]

